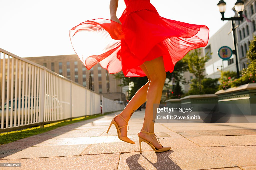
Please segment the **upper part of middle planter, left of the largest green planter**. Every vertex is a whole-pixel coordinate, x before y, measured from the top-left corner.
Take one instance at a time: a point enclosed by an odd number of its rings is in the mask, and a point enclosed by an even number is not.
[[[218,103],[218,96],[215,94],[189,95],[180,99],[181,103]]]

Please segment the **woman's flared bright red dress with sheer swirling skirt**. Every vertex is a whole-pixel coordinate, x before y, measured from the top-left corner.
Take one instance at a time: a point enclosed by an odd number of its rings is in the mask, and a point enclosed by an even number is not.
[[[109,73],[122,70],[126,77],[141,77],[146,76],[141,64],[163,56],[165,71],[173,72],[188,51],[207,45],[207,26],[163,18],[150,0],[124,1],[122,25],[94,19],[69,31],[74,51],[88,70],[99,63]]]

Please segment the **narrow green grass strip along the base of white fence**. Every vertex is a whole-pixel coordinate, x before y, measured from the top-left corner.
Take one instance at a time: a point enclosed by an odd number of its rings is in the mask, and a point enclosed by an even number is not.
[[[114,113],[114,112],[107,112],[107,113],[104,113],[104,115],[111,114],[111,113]],[[38,135],[38,134],[41,134],[44,132],[48,132],[50,130],[56,129],[61,126],[69,125],[72,123],[76,123],[76,122],[80,122],[80,121],[84,121],[84,120],[88,120],[88,119],[94,119],[94,118],[97,118],[100,116],[103,116],[103,115],[96,114],[96,115],[74,118],[74,119],[72,119],[72,121],[65,120],[65,121],[54,122],[54,123],[50,123],[50,124],[45,124],[44,128],[40,128],[40,126],[36,126],[36,127],[30,127],[30,128],[21,129],[21,130],[3,132],[3,133],[0,133],[0,145],[14,142],[16,140],[27,138],[27,137],[30,137],[33,135]]]

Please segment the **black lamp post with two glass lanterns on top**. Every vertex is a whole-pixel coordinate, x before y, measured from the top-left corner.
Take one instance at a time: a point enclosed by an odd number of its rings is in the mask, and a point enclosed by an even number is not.
[[[231,18],[225,18],[224,17],[224,13],[226,11],[226,2],[224,2],[223,0],[219,1],[219,3],[217,4],[218,7],[219,7],[219,11],[221,13],[221,20],[222,21],[231,21],[232,23],[232,31],[233,31],[233,37],[234,37],[234,50],[233,50],[233,54],[235,55],[236,57],[236,66],[237,66],[237,78],[240,77],[240,74],[239,74],[239,68],[238,68],[238,59],[237,59],[237,47],[236,47],[236,28],[234,28],[234,23],[233,21],[236,21],[236,20],[240,20],[242,21],[243,20],[243,9],[244,9],[244,2],[242,0],[237,0],[237,2],[235,3],[235,10],[238,12],[239,14],[239,17],[231,17]]]

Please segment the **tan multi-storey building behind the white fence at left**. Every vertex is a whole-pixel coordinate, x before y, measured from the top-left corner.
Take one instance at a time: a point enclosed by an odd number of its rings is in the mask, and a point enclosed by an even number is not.
[[[119,86],[120,80],[114,79],[115,76],[109,74],[100,64],[87,70],[77,55],[26,57],[26,59],[45,66],[88,89],[90,87],[91,90],[102,94],[103,97],[119,101],[125,100],[125,92]]]

